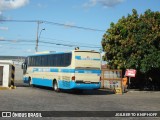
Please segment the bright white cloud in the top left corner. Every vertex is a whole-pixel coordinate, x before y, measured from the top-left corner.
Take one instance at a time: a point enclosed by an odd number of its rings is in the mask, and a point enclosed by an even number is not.
[[[0,11],[17,9],[25,6],[29,3],[29,0],[0,0]]]

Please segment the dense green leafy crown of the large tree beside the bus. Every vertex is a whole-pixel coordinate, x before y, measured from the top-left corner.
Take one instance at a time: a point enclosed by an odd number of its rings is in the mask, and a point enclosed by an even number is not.
[[[137,69],[146,73],[160,68],[160,12],[151,10],[122,17],[103,35],[105,60],[112,68]]]

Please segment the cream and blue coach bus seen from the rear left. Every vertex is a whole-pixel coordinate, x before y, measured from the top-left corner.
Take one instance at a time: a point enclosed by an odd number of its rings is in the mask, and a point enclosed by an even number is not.
[[[55,91],[99,89],[101,55],[73,50],[28,56],[22,64],[24,83],[52,87]]]

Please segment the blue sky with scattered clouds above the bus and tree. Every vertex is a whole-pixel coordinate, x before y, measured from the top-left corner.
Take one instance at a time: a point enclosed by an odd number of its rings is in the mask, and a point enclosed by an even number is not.
[[[38,52],[100,51],[110,23],[132,9],[160,11],[160,0],[0,0],[0,56],[35,54],[37,35]]]

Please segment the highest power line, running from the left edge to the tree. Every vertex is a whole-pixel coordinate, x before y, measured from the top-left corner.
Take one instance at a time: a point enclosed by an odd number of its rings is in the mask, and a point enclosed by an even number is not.
[[[83,29],[83,30],[97,31],[97,32],[105,32],[105,30],[101,30],[101,29],[82,27],[82,26],[76,26],[76,25],[68,25],[68,24],[64,24],[64,23],[50,22],[50,21],[45,21],[45,20],[0,20],[0,22],[27,22],[27,23],[41,22],[41,23],[56,25],[56,26],[63,26],[63,27],[67,26],[67,27],[76,28],[76,29]]]

